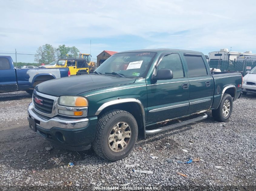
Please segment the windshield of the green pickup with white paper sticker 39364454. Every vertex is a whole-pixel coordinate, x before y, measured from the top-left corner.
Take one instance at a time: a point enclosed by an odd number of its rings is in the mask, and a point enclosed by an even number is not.
[[[104,74],[116,72],[128,77],[145,77],[156,53],[117,53],[109,57],[95,71]]]

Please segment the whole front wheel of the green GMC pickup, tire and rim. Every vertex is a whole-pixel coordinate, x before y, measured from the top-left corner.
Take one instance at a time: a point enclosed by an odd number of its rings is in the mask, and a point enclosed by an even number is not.
[[[131,113],[111,110],[99,119],[95,140],[92,144],[98,156],[118,161],[130,154],[138,137],[138,125]]]

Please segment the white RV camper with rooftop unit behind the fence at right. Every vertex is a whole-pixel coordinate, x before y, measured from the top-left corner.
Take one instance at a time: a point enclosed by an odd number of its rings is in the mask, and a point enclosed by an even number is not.
[[[256,56],[256,54],[251,53],[251,51],[246,51],[245,53],[231,52],[227,48],[221,49],[220,51],[214,51],[209,53],[209,61],[212,60],[236,60],[238,56]]]

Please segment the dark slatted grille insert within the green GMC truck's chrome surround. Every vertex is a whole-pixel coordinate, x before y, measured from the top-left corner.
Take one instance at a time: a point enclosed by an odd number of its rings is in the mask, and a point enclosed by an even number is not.
[[[37,103],[35,101],[36,98],[39,99],[40,103],[42,103],[42,104]],[[35,109],[37,109],[38,111],[41,111],[41,112],[47,113],[47,114],[51,114],[53,102],[54,102],[54,100],[33,94],[33,103],[34,103]]]

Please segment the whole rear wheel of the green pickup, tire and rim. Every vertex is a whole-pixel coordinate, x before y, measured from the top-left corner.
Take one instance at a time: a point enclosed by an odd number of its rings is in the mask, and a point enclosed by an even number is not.
[[[233,98],[230,94],[224,94],[219,107],[212,110],[212,116],[215,120],[225,122],[229,119],[233,109]]]

